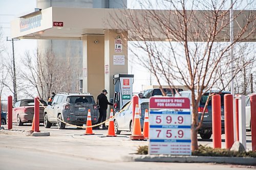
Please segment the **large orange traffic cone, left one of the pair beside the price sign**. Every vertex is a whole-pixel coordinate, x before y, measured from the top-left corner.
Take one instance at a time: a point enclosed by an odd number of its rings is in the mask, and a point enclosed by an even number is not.
[[[141,126],[140,126],[140,113],[139,105],[136,104],[134,123],[133,123],[133,135],[130,136],[132,140],[143,140],[144,136],[141,135]]]

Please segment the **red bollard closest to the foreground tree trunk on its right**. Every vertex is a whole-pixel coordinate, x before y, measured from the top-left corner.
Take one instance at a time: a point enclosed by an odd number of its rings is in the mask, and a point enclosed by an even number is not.
[[[212,106],[212,141],[214,148],[221,148],[221,96],[215,94],[211,97]]]

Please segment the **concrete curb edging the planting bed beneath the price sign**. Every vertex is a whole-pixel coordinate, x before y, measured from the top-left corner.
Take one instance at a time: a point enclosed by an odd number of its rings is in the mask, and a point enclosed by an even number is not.
[[[172,155],[131,155],[122,157],[124,161],[142,162],[180,162],[180,163],[229,163],[240,165],[256,165],[256,158],[220,157],[220,156],[172,156]]]

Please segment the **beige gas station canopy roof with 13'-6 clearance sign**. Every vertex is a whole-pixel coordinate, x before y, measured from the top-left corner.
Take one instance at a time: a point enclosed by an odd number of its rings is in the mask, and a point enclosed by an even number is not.
[[[131,9],[95,9],[95,8],[57,8],[50,7],[44,10],[37,10],[33,13],[20,16],[11,22],[11,37],[26,39],[73,39],[81,40],[83,35],[104,35],[104,30],[116,30],[118,32],[128,31],[128,40],[141,40],[136,31],[133,31],[133,23],[131,19],[127,19],[127,15],[132,16],[135,21],[143,22],[143,16],[146,12],[153,11],[161,13],[162,16],[169,16],[172,10],[131,10]],[[205,12],[205,11],[201,11]],[[234,11],[234,16],[240,11]],[[166,13],[166,14],[165,14]],[[198,11],[200,16],[200,11]],[[243,16],[249,13],[255,18],[255,11],[243,11],[234,21],[234,35],[246,23]],[[173,13],[175,15],[175,13]],[[201,19],[205,20],[203,15]],[[170,19],[174,16],[170,16]],[[227,20],[229,20],[229,15]],[[199,17],[200,18],[200,17]],[[127,23],[124,23],[124,20]],[[119,22],[120,21],[120,22]],[[130,23],[129,23],[130,22]],[[255,20],[252,21],[248,32],[253,31],[246,41],[255,41]],[[156,22],[150,23],[153,27]],[[145,31],[146,32],[146,31]],[[166,40],[165,35],[154,30],[155,39],[157,41]],[[223,33],[218,35],[219,41],[229,41],[229,25],[223,29]],[[171,40],[175,41],[175,40]]]

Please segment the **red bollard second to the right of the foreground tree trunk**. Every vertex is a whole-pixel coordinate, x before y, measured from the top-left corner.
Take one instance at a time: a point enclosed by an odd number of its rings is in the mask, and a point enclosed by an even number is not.
[[[225,143],[226,149],[232,147],[234,142],[233,131],[233,95],[224,95],[224,121],[225,121]]]

